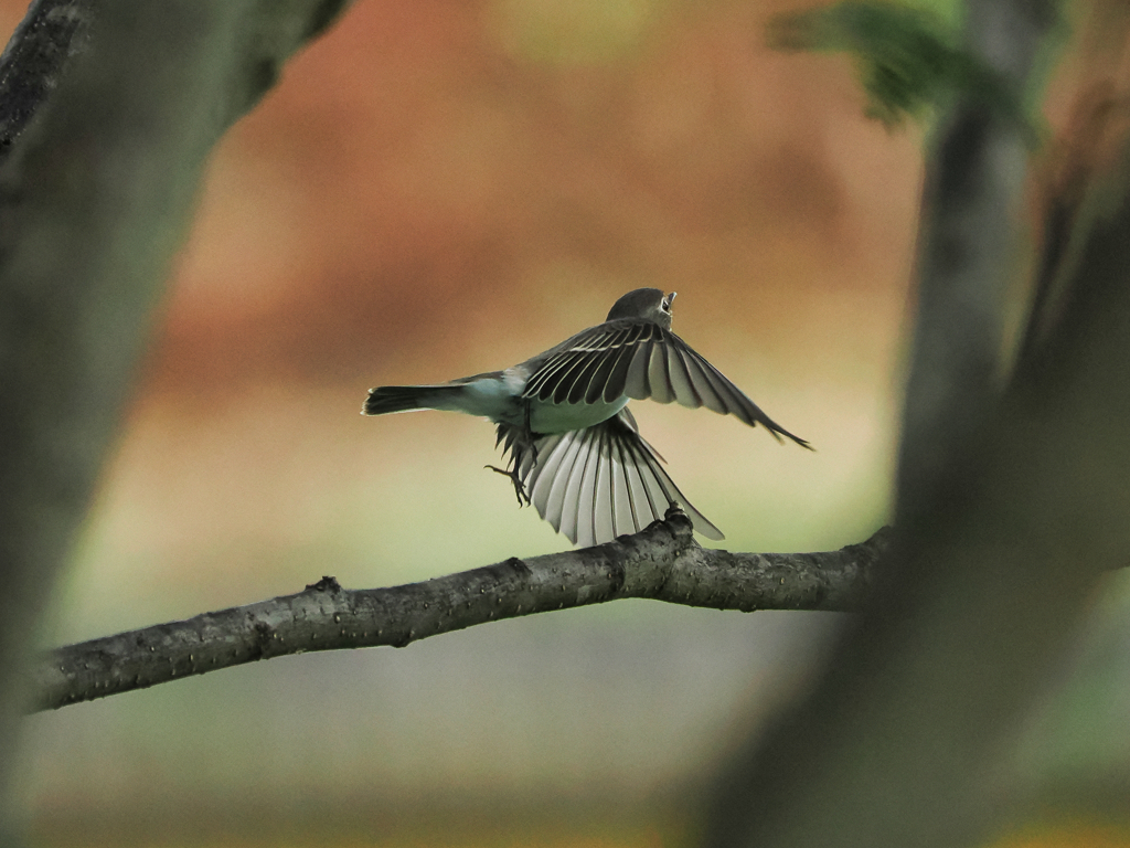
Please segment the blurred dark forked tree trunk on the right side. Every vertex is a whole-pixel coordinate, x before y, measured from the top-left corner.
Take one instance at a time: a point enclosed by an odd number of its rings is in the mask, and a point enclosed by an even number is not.
[[[923,200],[896,537],[810,696],[720,776],[707,845],[983,843],[1006,812],[994,769],[1103,572],[1127,562],[1130,147],[1110,132],[1125,110],[1127,10],[1096,8],[1084,43],[1105,47],[1087,58],[1085,136],[1058,150],[1063,193],[1045,199],[1031,266],[1041,296],[1003,391],[1023,140],[972,101],[945,124]],[[1051,12],[975,0],[970,45],[1018,78]]]

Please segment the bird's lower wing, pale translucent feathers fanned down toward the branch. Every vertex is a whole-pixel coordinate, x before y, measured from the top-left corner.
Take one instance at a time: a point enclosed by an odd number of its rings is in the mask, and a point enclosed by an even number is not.
[[[667,475],[627,409],[591,427],[539,439],[537,460],[519,447],[512,430],[499,425],[499,442],[519,450],[516,471],[530,502],[573,544],[586,547],[637,533],[661,519],[671,503],[703,536],[724,538]]]

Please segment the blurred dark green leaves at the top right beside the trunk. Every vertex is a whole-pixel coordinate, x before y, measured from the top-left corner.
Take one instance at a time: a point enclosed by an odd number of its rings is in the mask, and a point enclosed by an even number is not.
[[[867,90],[868,115],[888,127],[907,116],[928,120],[966,95],[1032,132],[1017,87],[964,50],[957,26],[933,10],[847,0],[776,16],[768,42],[777,50],[852,53]]]

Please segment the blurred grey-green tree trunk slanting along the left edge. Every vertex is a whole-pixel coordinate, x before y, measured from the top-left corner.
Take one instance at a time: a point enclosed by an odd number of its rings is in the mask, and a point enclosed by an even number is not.
[[[208,150],[345,5],[41,0],[6,51],[0,798],[31,695],[28,650],[113,443]],[[0,815],[9,845],[18,828],[7,804]]]

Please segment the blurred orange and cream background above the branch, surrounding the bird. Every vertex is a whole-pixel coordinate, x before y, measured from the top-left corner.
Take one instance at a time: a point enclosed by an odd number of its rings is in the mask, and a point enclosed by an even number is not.
[[[228,133],[60,638],[566,547],[483,470],[493,427],[360,403],[519,362],[642,285],[817,448],[636,405],[731,547],[883,521],[920,139],[862,116],[845,59],[764,47],[771,8],[590,6],[360,2]]]

